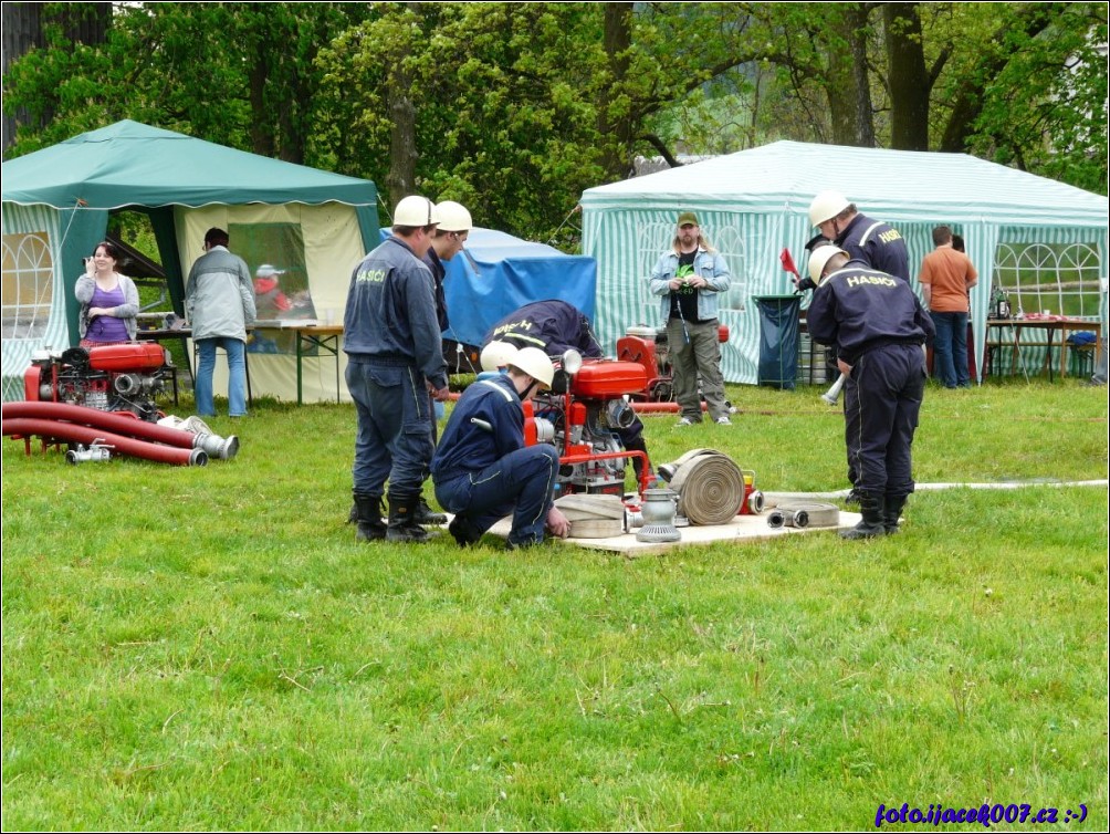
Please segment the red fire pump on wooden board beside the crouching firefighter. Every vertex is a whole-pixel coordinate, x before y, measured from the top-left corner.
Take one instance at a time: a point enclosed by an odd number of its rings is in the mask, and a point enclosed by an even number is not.
[[[625,466],[643,461],[639,492],[650,482],[647,455],[625,450],[617,430],[636,420],[627,395],[647,386],[644,366],[609,359],[583,360],[567,351],[552,390],[525,403],[524,440],[552,443],[559,453],[559,489],[566,493],[624,495]]]

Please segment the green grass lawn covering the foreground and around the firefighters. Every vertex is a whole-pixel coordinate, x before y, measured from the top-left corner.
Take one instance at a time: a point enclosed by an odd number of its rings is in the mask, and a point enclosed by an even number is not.
[[[733,426],[648,448],[844,489],[823,390],[730,386]],[[1106,389],[930,388],[920,483],[1031,485],[921,491],[897,536],[635,560],[360,545],[351,406],[209,422],[236,459],[3,441],[6,831],[1108,825],[1107,489],[1051,485],[1107,478]]]

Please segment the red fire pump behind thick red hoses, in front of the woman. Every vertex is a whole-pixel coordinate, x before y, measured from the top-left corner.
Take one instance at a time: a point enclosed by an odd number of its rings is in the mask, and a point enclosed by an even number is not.
[[[154,396],[165,390],[168,364],[155,342],[39,351],[23,372],[23,393],[30,402],[125,411],[153,423],[165,416]]]

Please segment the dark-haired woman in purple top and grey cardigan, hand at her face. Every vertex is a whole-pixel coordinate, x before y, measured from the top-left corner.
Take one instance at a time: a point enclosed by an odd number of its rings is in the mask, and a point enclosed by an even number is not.
[[[98,243],[84,259],[85,273],[77,280],[73,294],[81,302],[78,329],[82,348],[121,344],[135,338],[139,290],[134,281],[115,271],[119,250],[108,241]]]

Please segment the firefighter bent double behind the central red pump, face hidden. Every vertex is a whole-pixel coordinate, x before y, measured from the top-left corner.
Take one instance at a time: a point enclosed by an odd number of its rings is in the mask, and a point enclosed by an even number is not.
[[[506,342],[517,348],[539,348],[552,359],[558,359],[567,350],[574,349],[586,359],[602,359],[602,350],[597,336],[589,326],[589,319],[574,304],[548,299],[534,301],[513,311],[498,321],[486,333],[483,345],[491,342]],[[628,393],[634,393],[629,391]],[[647,444],[644,442],[644,422],[637,415],[627,429],[614,429],[620,439],[620,444],[630,452],[643,452],[647,456]],[[636,480],[640,480],[643,462],[633,458],[633,471]],[[650,464],[648,464],[650,470]]]

